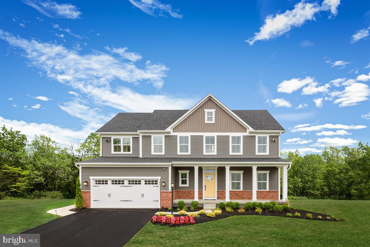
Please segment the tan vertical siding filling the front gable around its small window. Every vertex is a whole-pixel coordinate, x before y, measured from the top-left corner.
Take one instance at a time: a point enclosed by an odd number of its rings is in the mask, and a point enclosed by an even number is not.
[[[205,123],[205,109],[216,109],[215,123]],[[218,106],[207,100],[173,129],[173,132],[247,132],[247,129]]]

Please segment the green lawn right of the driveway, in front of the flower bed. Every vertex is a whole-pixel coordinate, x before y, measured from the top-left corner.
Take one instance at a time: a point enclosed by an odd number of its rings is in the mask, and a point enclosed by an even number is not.
[[[368,246],[370,201],[299,200],[293,208],[329,214],[342,222],[271,216],[233,216],[184,227],[145,225],[133,246]],[[149,220],[149,219],[148,219]]]

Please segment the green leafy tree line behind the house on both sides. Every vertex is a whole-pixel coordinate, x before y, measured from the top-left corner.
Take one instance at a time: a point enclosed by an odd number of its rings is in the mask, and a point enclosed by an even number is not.
[[[78,168],[75,162],[100,155],[100,137],[91,133],[81,144],[63,146],[47,136],[28,141],[20,131],[0,130],[0,198],[27,197],[40,191],[57,191],[74,198]],[[292,161],[288,196],[308,198],[369,199],[370,147],[326,147],[322,154],[283,152]],[[281,182],[281,180],[280,180]]]

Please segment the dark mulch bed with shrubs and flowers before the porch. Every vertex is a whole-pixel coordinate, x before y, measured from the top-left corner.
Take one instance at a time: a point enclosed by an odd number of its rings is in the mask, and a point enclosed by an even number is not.
[[[288,217],[286,216],[287,213],[291,213],[292,216]],[[299,217],[294,216],[295,213],[300,213]],[[307,218],[306,214],[310,213],[312,214],[312,218]],[[305,210],[300,210],[300,209],[290,209],[288,211],[283,211],[283,212],[276,212],[276,211],[265,211],[263,210],[261,214],[255,213],[254,210],[245,210],[244,213],[238,213],[238,211],[234,210],[233,213],[228,213],[225,211],[225,209],[222,209],[221,215],[217,215],[215,218],[208,217],[206,215],[198,215],[198,218],[194,218],[195,224],[199,223],[205,223],[209,221],[214,221],[214,220],[220,220],[223,218],[227,218],[230,216],[235,216],[235,215],[262,215],[262,216],[279,216],[279,217],[286,217],[286,218],[297,218],[297,219],[304,219],[304,220],[322,220],[322,221],[344,221],[342,219],[338,218],[332,218],[329,215],[326,214],[319,214],[319,213],[314,213],[310,211],[305,211]],[[179,215],[174,215],[175,217]],[[321,216],[322,218],[317,218],[317,216]],[[330,219],[327,219],[326,217],[329,216]],[[182,225],[171,225],[171,224],[162,224],[162,223],[152,223],[155,225],[161,225],[161,226],[168,226],[168,227],[179,227],[179,226],[188,226],[186,224]]]

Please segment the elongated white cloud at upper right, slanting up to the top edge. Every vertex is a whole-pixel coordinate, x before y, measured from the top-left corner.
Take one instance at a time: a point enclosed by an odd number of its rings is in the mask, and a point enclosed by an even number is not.
[[[322,6],[318,3],[306,3],[304,0],[297,3],[293,10],[287,10],[283,14],[270,15],[266,17],[265,23],[255,36],[246,40],[253,45],[258,40],[269,40],[279,37],[295,27],[300,27],[309,20],[315,20],[315,14],[320,11],[330,10],[333,15],[337,14],[337,1],[324,0]]]

